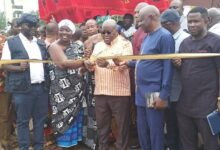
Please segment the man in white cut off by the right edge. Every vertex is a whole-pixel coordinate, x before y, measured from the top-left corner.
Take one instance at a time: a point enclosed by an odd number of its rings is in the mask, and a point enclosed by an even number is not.
[[[210,8],[209,13],[209,32],[220,35],[220,9]]]

